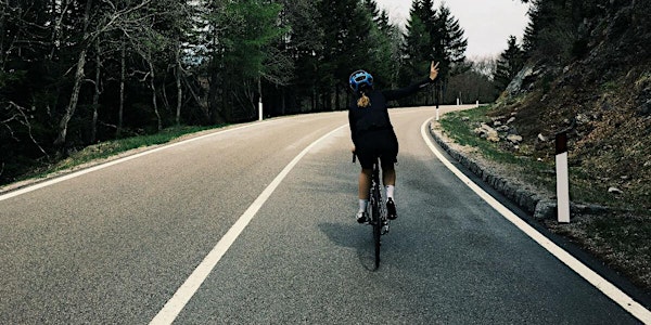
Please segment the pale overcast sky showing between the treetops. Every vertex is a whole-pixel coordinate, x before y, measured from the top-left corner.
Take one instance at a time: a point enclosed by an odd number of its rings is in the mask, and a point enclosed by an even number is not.
[[[375,0],[388,12],[393,23],[404,24],[409,18],[411,0]],[[468,39],[465,56],[497,56],[507,49],[510,35],[522,42],[524,28],[529,20],[528,4],[521,0],[435,0],[438,8],[445,3],[451,15],[459,21]]]

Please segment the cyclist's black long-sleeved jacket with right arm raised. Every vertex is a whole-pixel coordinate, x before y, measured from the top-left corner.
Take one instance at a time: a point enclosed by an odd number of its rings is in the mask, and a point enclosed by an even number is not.
[[[400,89],[384,91],[373,90],[371,93],[367,94],[371,100],[371,105],[369,107],[357,106],[357,100],[361,96],[361,94],[358,94],[358,98],[355,99],[348,107],[348,123],[350,125],[353,143],[357,144],[359,135],[368,131],[393,129],[388,118],[386,103],[413,94],[431,82],[432,80],[427,78]]]

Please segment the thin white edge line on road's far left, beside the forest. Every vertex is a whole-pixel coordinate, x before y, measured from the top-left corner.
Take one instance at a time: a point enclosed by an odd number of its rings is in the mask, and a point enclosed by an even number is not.
[[[119,159],[116,159],[116,160],[113,160],[113,161],[104,162],[104,164],[101,164],[101,165],[98,165],[98,166],[94,166],[94,167],[90,167],[90,168],[87,168],[87,169],[75,171],[75,172],[66,174],[66,176],[62,176],[62,177],[58,177],[58,178],[51,179],[49,181],[44,181],[44,182],[37,183],[37,184],[34,184],[34,185],[29,185],[29,186],[26,186],[26,187],[23,187],[23,188],[20,188],[20,190],[8,192],[7,194],[0,195],[0,202],[1,200],[5,200],[8,198],[12,198],[12,197],[18,196],[18,195],[26,194],[26,193],[29,193],[29,192],[33,192],[33,191],[36,191],[36,190],[39,190],[39,188],[42,188],[42,187],[54,185],[56,183],[61,183],[61,182],[67,181],[69,179],[74,179],[74,178],[80,177],[80,176],[86,174],[86,173],[98,171],[100,169],[104,169],[104,168],[107,168],[107,167],[111,167],[111,166],[115,166],[115,165],[118,165],[118,164],[122,164],[122,162],[125,162],[125,161],[128,161],[128,160],[131,160],[131,159],[140,158],[140,157],[153,154],[153,153],[157,153],[159,151],[164,151],[164,150],[167,150],[167,148],[170,148],[170,147],[175,147],[177,145],[186,144],[186,143],[189,143],[189,142],[193,142],[193,141],[206,139],[206,138],[209,138],[209,136],[215,136],[215,135],[219,135],[219,134],[224,134],[224,133],[228,133],[228,132],[232,132],[232,131],[245,129],[245,128],[256,127],[256,126],[259,126],[259,125],[263,125],[263,123],[272,122],[272,121],[273,120],[266,120],[266,121],[263,121],[263,122],[254,122],[254,123],[251,123],[251,125],[245,125],[245,126],[241,126],[241,127],[237,127],[237,128],[232,128],[232,129],[226,129],[226,130],[222,130],[222,131],[217,131],[217,132],[214,132],[214,133],[209,133],[209,134],[205,134],[205,135],[201,135],[201,136],[196,136],[196,138],[191,138],[191,139],[179,141],[179,142],[175,142],[175,143],[171,143],[171,144],[165,144],[165,145],[162,145],[159,147],[156,147],[156,148],[153,148],[153,150],[148,150],[148,151],[139,153],[139,154],[135,154],[135,155],[127,156],[127,157],[124,157],[124,158],[119,158]]]

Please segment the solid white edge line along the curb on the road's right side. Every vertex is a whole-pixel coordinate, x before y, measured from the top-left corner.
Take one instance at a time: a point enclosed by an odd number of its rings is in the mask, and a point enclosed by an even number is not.
[[[534,227],[528,225],[522,219],[520,219],[515,213],[500,204],[497,199],[482,190],[477,184],[471,181],[467,176],[464,176],[457,167],[455,167],[449,160],[445,158],[445,156],[436,148],[430,135],[427,135],[426,128],[430,125],[432,118],[427,119],[421,127],[421,135],[432,153],[436,155],[436,157],[452,172],[455,173],[468,187],[470,187],[474,193],[476,193],[480,197],[482,197],[486,203],[488,203],[495,210],[501,213],[507,220],[518,226],[522,232],[524,232],[527,236],[551,252],[557,259],[561,262],[565,263],[570,269],[580,275],[583,278],[588,281],[591,285],[597,287],[597,289],[601,290],[605,296],[615,301],[635,317],[640,320],[644,324],[651,324],[651,312],[647,310],[643,306],[639,304],[628,295],[624,294],[620,288],[608,282],[605,278],[601,277],[595,271],[590,270],[588,266],[583,264],[580,261],[575,259],[567,251],[563,250],[558,245],[553,244]]]

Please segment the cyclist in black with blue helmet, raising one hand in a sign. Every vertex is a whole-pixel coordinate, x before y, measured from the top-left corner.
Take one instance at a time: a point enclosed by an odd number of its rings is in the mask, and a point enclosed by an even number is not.
[[[369,204],[371,174],[373,172],[373,158],[380,157],[382,166],[382,182],[386,190],[386,213],[388,219],[396,219],[396,205],[394,191],[396,185],[398,140],[388,118],[386,103],[413,94],[432,83],[438,76],[438,63],[430,67],[430,77],[411,86],[379,91],[373,89],[373,76],[365,70],[357,70],[350,75],[350,88],[357,95],[348,109],[348,123],[353,138],[353,153],[359,158],[361,172],[359,173],[359,211],[355,216],[357,222],[368,222],[366,212]]]

